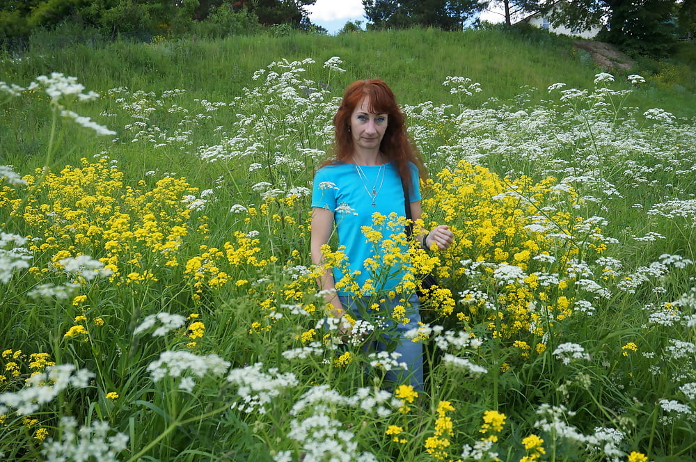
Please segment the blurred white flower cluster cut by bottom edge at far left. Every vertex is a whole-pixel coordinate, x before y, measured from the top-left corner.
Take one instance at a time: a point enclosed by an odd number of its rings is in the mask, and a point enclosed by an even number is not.
[[[45,462],[118,462],[118,454],[125,451],[129,439],[125,433],[114,433],[108,422],[92,422],[77,429],[74,417],[61,418],[58,434],[60,441],[49,438],[43,444]]]

